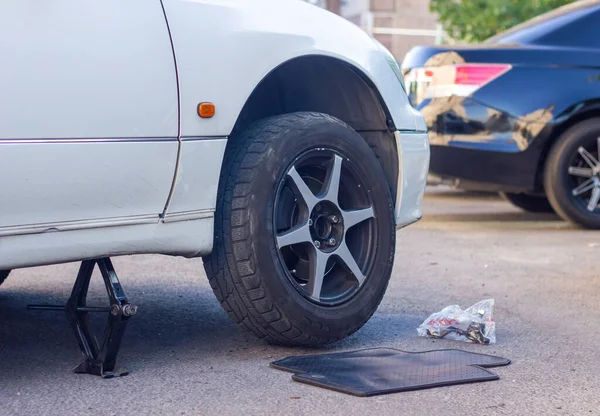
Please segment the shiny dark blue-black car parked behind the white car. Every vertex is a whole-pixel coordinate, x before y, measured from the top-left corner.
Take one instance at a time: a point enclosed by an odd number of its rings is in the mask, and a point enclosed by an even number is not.
[[[600,228],[599,0],[478,45],[414,48],[402,67],[432,176]]]

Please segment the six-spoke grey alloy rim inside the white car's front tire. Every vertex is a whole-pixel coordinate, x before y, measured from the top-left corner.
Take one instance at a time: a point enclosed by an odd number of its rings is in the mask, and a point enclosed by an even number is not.
[[[332,306],[361,289],[376,218],[351,161],[331,149],[306,152],[281,180],[274,210],[279,258],[301,294]]]

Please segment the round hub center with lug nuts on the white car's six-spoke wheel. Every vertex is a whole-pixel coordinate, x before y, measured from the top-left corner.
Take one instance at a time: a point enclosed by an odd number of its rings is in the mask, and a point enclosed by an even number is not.
[[[342,211],[329,201],[319,202],[310,214],[310,235],[321,251],[335,250],[344,239]]]

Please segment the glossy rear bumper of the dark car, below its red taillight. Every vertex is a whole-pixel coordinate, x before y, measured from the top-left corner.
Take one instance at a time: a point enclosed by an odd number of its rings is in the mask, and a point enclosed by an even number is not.
[[[551,113],[513,116],[467,97],[426,100],[430,173],[461,188],[536,192]]]

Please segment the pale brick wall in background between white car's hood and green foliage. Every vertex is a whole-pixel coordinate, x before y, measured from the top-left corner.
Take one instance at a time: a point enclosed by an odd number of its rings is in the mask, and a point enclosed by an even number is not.
[[[437,20],[429,12],[429,0],[371,0],[375,27],[435,30]],[[433,45],[434,37],[381,35],[375,37],[398,59],[416,45]]]

